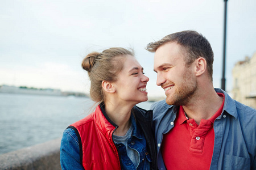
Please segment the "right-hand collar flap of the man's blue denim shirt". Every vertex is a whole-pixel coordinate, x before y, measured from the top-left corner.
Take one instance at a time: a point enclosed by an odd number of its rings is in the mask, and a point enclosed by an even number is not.
[[[225,95],[223,111],[221,113],[221,116],[217,117],[217,119],[220,119],[222,117],[224,111],[237,119],[237,109],[235,101],[225,91],[221,90],[220,88],[214,88],[214,90]]]

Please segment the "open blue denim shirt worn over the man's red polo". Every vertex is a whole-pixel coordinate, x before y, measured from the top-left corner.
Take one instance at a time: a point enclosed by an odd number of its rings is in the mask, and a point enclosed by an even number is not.
[[[210,169],[256,169],[256,110],[233,100],[226,92],[224,108],[213,124],[214,148]],[[166,169],[161,143],[163,134],[174,127],[179,107],[165,100],[152,104],[158,168]],[[189,159],[189,158],[188,158]],[[170,160],[171,161],[171,160]]]

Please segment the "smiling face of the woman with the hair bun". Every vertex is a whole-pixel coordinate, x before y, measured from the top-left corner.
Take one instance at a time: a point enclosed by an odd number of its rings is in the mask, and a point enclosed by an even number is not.
[[[146,85],[148,77],[135,57],[127,55],[123,59],[123,69],[113,83],[115,94],[123,102],[138,104],[147,101]]]

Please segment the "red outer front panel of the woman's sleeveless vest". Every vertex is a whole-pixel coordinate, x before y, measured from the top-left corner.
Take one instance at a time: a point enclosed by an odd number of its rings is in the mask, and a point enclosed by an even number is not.
[[[85,169],[121,169],[112,135],[115,127],[100,109],[69,126],[76,131],[80,145],[80,160]]]

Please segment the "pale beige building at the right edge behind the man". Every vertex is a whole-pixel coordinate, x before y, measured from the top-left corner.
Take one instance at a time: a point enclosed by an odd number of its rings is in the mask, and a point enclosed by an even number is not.
[[[232,70],[233,99],[256,108],[256,53],[238,61]]]

